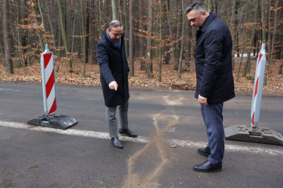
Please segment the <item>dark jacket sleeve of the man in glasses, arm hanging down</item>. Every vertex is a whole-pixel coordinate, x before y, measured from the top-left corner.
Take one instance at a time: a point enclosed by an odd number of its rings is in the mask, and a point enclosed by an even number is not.
[[[208,98],[221,67],[224,37],[218,30],[211,30],[204,39],[205,64],[200,85],[200,95]]]

